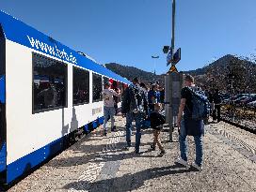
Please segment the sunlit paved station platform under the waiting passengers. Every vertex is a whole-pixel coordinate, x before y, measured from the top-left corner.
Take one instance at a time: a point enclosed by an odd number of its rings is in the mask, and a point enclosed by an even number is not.
[[[206,126],[203,170],[176,165],[178,132],[168,142],[167,154],[151,151],[152,130],[143,130],[141,154],[124,151],[125,120],[116,117],[117,131],[102,135],[99,127],[66,151],[35,170],[8,191],[256,191],[256,135],[220,122]],[[108,125],[109,126],[109,125]],[[134,130],[135,133],[135,130]],[[135,135],[133,135],[135,143]],[[189,162],[194,160],[193,138],[188,137]]]

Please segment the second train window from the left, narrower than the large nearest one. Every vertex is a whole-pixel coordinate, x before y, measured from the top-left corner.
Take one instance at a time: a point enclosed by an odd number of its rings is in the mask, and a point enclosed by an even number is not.
[[[89,102],[89,72],[82,68],[72,67],[72,104]]]

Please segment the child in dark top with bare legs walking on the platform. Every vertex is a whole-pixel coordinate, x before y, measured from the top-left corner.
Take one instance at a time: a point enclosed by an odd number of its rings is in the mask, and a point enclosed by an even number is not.
[[[161,142],[159,140],[159,135],[166,120],[165,120],[165,117],[159,113],[159,111],[161,111],[161,103],[155,103],[154,111],[152,111],[150,115],[151,126],[153,129],[153,142],[152,142],[151,148],[152,148],[152,151],[154,151],[155,145],[157,144],[161,151],[159,156],[163,156],[166,154],[166,151],[161,145]]]

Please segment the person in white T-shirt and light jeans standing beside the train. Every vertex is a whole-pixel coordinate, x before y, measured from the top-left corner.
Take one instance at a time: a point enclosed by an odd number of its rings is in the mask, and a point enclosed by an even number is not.
[[[120,96],[120,91],[116,92],[113,89],[110,89],[111,83],[105,82],[104,90],[103,90],[103,98],[104,98],[104,136],[106,136],[107,128],[106,123],[108,118],[111,119],[111,131],[115,129],[114,126],[114,115],[115,115],[115,107],[114,107],[114,97],[113,96]]]

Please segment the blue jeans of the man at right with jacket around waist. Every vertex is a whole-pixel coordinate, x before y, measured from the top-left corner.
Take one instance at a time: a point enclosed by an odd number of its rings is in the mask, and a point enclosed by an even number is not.
[[[187,161],[187,143],[186,143],[186,131],[184,127],[184,119],[181,122],[181,128],[180,128],[180,151],[181,151],[181,157],[184,159],[184,161]],[[195,163],[199,166],[201,166],[202,163],[202,135],[199,136],[193,136],[196,144],[196,160]]]

